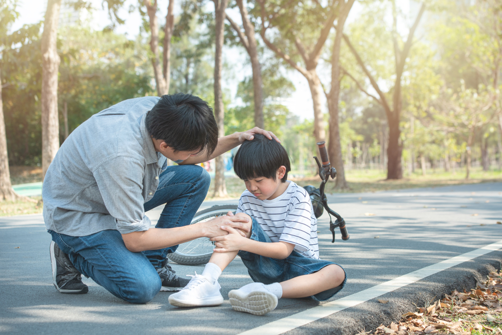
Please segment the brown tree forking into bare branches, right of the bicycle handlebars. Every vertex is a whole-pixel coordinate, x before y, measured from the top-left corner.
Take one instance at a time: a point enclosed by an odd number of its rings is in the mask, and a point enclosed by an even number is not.
[[[369,82],[371,83],[372,88],[376,91],[378,97],[367,92],[367,90],[365,90],[363,88],[363,85],[361,85],[359,82],[357,82],[357,86],[361,89],[363,93],[367,94],[375,101],[382,104],[387,115],[387,122],[389,124],[389,144],[387,147],[388,180],[403,178],[403,168],[401,163],[403,143],[401,142],[401,129],[400,129],[401,112],[403,108],[402,76],[406,65],[406,59],[408,58],[410,49],[413,45],[413,37],[415,31],[418,27],[418,24],[420,23],[420,19],[422,18],[424,12],[425,12],[425,4],[422,3],[419,13],[415,19],[415,22],[413,23],[413,26],[409,30],[406,42],[403,43],[397,29],[398,11],[396,8],[396,2],[395,0],[392,1],[392,16],[393,16],[392,42],[394,46],[394,59],[395,59],[395,82],[394,82],[394,87],[388,92],[388,94],[389,93],[392,94],[392,105],[388,102],[387,94],[383,92],[380,85],[378,84],[377,79],[375,79],[375,76],[371,73],[370,68],[367,66],[368,60],[363,60],[359,56],[358,52],[355,50],[355,47],[350,42],[348,36],[343,35],[345,43],[347,44],[350,51],[354,55],[362,71],[367,76]],[[401,45],[403,45],[402,49],[400,47]],[[350,77],[354,79],[353,76]]]

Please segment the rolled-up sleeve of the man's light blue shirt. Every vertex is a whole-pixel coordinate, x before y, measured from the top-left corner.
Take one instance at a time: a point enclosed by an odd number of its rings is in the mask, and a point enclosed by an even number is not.
[[[123,156],[107,160],[93,171],[104,205],[121,234],[150,228],[142,193],[144,174],[139,160]]]

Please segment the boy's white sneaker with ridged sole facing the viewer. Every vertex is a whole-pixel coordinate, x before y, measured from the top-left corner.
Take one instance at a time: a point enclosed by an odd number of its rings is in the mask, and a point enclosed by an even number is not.
[[[277,307],[277,296],[270,292],[252,291],[242,294],[238,290],[228,292],[233,310],[253,315],[265,315]]]

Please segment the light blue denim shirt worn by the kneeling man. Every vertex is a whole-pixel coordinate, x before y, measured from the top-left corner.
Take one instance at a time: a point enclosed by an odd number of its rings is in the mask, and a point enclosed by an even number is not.
[[[122,101],[68,136],[43,184],[47,229],[70,236],[149,229],[143,205],[152,199],[167,166],[145,126],[147,112],[158,101]]]

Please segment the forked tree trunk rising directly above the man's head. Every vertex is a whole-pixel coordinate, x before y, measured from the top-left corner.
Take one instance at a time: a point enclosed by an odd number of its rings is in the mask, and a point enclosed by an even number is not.
[[[157,94],[162,96],[169,93],[171,81],[171,38],[174,31],[174,0],[169,0],[167,7],[166,25],[164,26],[163,57],[162,68],[160,65],[159,50],[159,20],[157,18],[158,2],[157,0],[143,0],[147,7],[147,13],[150,23],[150,49],[152,50],[152,65],[157,84]]]

